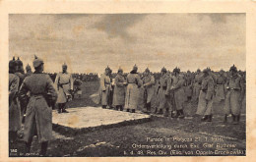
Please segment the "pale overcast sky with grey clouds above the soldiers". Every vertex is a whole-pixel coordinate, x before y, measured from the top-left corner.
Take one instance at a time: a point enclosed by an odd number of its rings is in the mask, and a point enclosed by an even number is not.
[[[9,15],[9,57],[45,72],[245,70],[245,14]]]

